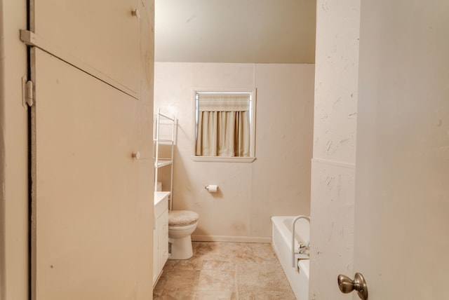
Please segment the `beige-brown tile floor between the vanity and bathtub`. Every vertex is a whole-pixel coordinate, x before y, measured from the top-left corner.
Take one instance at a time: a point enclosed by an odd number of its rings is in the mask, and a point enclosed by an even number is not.
[[[193,250],[190,259],[168,259],[153,299],[295,299],[270,244],[194,242]]]

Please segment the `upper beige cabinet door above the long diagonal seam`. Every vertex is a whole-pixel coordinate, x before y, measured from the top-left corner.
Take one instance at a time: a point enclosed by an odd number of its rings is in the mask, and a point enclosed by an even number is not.
[[[138,93],[138,0],[32,0],[31,8],[40,39]]]

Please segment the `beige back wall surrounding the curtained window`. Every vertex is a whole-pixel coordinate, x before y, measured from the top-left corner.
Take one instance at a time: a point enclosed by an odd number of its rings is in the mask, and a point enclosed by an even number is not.
[[[313,64],[156,62],[154,80],[154,108],[179,122],[173,207],[199,213],[194,239],[269,241],[272,215],[309,214]],[[257,160],[192,161],[192,88],[253,87]]]

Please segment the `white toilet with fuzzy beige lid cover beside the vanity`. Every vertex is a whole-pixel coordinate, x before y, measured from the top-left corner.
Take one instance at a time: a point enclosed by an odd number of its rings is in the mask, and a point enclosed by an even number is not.
[[[189,259],[193,255],[190,237],[198,224],[199,214],[189,210],[170,210],[168,212],[168,259]]]

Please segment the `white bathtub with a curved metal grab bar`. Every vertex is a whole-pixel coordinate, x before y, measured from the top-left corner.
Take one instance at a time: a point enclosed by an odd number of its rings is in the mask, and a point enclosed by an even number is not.
[[[296,299],[307,300],[309,299],[309,259],[300,259],[299,266],[292,266],[291,224],[293,218],[294,216],[272,217],[272,245]],[[295,224],[295,249],[299,247],[299,243],[309,241],[309,233],[309,222],[305,219],[297,220]],[[295,261],[297,260],[295,259]]]

